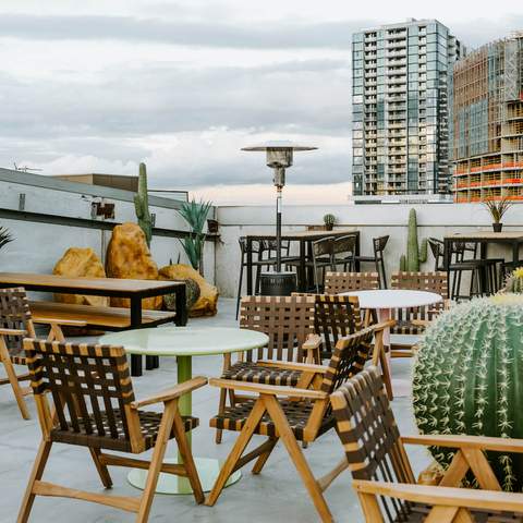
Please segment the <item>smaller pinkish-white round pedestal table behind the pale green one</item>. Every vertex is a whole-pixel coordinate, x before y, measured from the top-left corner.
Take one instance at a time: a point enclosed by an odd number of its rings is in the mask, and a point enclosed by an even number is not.
[[[398,308],[424,307],[442,302],[443,299],[435,292],[411,291],[408,289],[378,289],[373,291],[342,292],[344,296],[357,296],[361,308],[374,308],[378,321],[387,321],[391,311]],[[390,329],[384,331],[384,344],[390,344]]]

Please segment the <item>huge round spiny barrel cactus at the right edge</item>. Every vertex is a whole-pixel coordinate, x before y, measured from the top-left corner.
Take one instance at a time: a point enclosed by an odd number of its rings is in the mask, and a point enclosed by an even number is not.
[[[473,300],[443,313],[419,343],[413,404],[422,434],[523,438],[523,296]],[[453,455],[433,448],[443,467]],[[487,455],[506,490],[523,489],[523,455]]]

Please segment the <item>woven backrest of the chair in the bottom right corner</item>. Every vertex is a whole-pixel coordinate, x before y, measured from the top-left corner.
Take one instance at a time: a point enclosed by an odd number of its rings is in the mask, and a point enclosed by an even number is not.
[[[409,459],[377,367],[349,379],[331,396],[338,435],[355,479],[414,483]],[[405,521],[410,508],[381,499],[389,522]]]

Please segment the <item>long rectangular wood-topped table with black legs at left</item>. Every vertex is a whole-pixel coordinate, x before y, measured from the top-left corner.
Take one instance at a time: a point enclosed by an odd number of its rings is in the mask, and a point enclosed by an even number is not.
[[[131,301],[131,329],[142,327],[142,300],[144,297],[175,295],[174,323],[187,324],[185,283],[180,281],[130,280],[120,278],[69,278],[31,272],[0,272],[0,289],[23,287],[27,291],[57,292],[61,294],[87,294],[94,296],[126,297]],[[149,360],[147,368],[158,366]],[[142,376],[142,357],[131,358],[131,373]]]

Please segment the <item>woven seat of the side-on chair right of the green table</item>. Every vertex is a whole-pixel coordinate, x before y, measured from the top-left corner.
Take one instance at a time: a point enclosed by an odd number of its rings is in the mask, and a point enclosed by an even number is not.
[[[254,406],[256,400],[243,400],[241,403],[236,403],[234,406],[226,408],[222,414],[218,414],[210,418],[209,425],[214,428],[221,428],[223,430],[242,430],[245,426],[248,415]],[[294,433],[297,440],[303,440],[303,429],[307,424],[311,416],[314,403],[299,402],[290,400],[279,401],[287,421]],[[326,415],[321,422],[320,429],[317,436],[326,433],[335,426],[335,417],[332,415]],[[255,434],[262,436],[276,437],[276,427],[270,416],[265,413],[262,422],[258,424]]]

